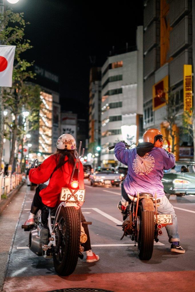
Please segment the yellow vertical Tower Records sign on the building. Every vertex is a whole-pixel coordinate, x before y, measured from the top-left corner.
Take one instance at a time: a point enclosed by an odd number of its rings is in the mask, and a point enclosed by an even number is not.
[[[192,65],[184,65],[184,112],[192,114]]]

